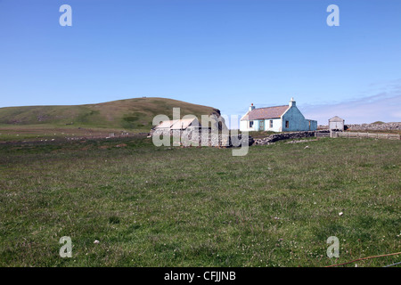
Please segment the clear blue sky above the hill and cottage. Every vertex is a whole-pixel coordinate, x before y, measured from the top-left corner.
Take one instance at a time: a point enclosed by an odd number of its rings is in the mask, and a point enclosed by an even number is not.
[[[294,97],[319,124],[401,121],[400,15],[397,0],[0,0],[0,107],[148,96],[242,115]]]

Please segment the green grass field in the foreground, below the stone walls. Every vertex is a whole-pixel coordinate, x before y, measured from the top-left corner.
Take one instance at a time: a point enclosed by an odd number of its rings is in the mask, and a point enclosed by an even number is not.
[[[400,252],[400,154],[400,141],[340,138],[245,157],[146,138],[3,142],[0,266],[325,266]]]

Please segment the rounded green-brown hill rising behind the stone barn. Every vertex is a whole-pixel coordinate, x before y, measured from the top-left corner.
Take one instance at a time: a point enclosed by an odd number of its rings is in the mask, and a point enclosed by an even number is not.
[[[220,115],[220,111],[212,107],[149,97],[86,105],[5,107],[0,108],[0,124],[74,125],[149,130],[156,115],[164,114],[172,119],[175,107],[181,109],[181,117],[192,114],[201,119],[201,115],[212,113]]]

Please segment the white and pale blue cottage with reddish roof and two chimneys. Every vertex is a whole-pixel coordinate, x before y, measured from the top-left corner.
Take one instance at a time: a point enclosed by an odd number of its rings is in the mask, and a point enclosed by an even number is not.
[[[316,129],[317,121],[306,119],[293,98],[288,105],[283,106],[257,109],[251,104],[250,110],[240,121],[241,131],[297,132]]]

